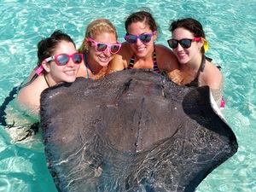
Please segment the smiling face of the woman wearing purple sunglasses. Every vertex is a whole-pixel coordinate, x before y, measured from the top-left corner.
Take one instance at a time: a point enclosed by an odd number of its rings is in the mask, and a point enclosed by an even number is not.
[[[131,25],[128,26],[128,33],[129,35],[139,36],[141,34],[151,34],[152,30],[145,23],[136,22],[131,23]],[[157,34],[154,34],[148,43],[143,43],[141,39],[137,38],[137,42],[135,44],[131,44],[131,49],[137,57],[143,58],[148,55],[148,53],[151,54],[151,51],[154,49],[154,39],[156,38]]]

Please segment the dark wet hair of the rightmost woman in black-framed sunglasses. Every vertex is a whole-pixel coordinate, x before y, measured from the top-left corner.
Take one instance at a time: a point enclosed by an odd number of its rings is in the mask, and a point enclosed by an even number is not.
[[[177,28],[184,28],[191,32],[195,38],[206,38],[205,32],[203,30],[203,27],[201,26],[201,23],[198,20],[195,20],[193,18],[184,18],[181,20],[173,20],[169,31],[173,32]],[[205,50],[203,46],[201,47],[201,53],[205,53]]]

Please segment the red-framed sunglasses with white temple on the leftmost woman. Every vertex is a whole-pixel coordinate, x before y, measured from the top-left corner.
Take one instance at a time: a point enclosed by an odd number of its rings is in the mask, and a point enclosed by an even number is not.
[[[83,61],[83,54],[74,53],[73,55],[60,54],[46,58],[44,61],[49,62],[55,60],[58,66],[67,65],[68,61],[72,58],[75,64],[80,64]]]

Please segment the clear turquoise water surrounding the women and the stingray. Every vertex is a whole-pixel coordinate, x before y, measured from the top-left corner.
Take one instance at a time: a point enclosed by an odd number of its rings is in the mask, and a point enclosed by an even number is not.
[[[141,3],[143,2],[143,3]],[[207,52],[224,75],[225,119],[235,132],[238,152],[215,169],[197,192],[256,191],[256,1],[212,0],[2,0],[0,3],[0,103],[37,62],[37,44],[55,29],[67,32],[79,46],[87,24],[105,17],[116,26],[119,41],[124,20],[147,6],[160,25],[157,43],[166,44],[170,20],[194,17],[207,32]],[[11,143],[0,125],[0,191],[55,192],[40,134],[29,143]]]

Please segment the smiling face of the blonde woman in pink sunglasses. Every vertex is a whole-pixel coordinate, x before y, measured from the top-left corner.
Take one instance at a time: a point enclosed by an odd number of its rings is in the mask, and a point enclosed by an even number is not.
[[[96,43],[102,44],[117,44],[116,36],[113,32],[102,32],[100,35],[96,34],[93,38]],[[96,44],[90,43],[88,60],[89,64],[97,63],[98,65],[105,67],[108,66],[108,62],[113,59],[113,55],[109,48],[103,52],[96,51]]]

